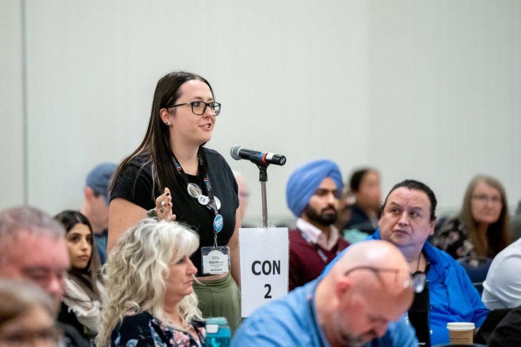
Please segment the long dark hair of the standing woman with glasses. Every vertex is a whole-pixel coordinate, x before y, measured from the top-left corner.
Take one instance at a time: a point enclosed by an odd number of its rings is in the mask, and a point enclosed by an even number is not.
[[[143,169],[146,165],[152,163],[152,199],[154,199],[155,187],[173,187],[178,185],[175,172],[172,170],[171,161],[171,148],[170,148],[170,133],[168,126],[161,120],[159,110],[166,108],[169,105],[173,105],[179,98],[180,88],[184,82],[191,80],[199,80],[208,85],[212,96],[214,91],[210,83],[195,73],[174,71],[167,73],[159,79],[154,92],[154,99],[152,101],[152,110],[150,113],[150,119],[148,119],[148,127],[146,128],[145,138],[138,146],[138,148],[128,157],[123,159],[119,164],[114,174],[114,179],[110,184],[110,191],[112,191],[125,167],[128,165],[130,160],[135,157],[142,157],[143,163],[140,168]],[[215,96],[214,96],[215,98]],[[139,176],[139,172],[137,177]],[[132,186],[131,192],[133,193],[135,187]]]

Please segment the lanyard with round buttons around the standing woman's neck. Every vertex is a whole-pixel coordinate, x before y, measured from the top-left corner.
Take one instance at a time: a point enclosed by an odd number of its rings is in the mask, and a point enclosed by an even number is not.
[[[210,179],[208,177],[208,173],[206,171],[206,165],[204,163],[203,156],[201,155],[201,150],[197,152],[197,158],[199,159],[199,168],[201,170],[201,174],[203,176],[203,182],[206,187],[206,192],[208,196],[203,195],[203,192],[199,185],[195,183],[191,183],[188,180],[187,174],[184,172],[183,168],[179,164],[175,154],[172,152],[172,162],[176,167],[179,176],[183,180],[184,184],[187,185],[187,191],[190,196],[199,201],[201,205],[207,205],[215,215],[214,218],[214,247],[217,247],[217,233],[222,230],[222,225],[224,224],[222,220],[222,216],[219,214],[218,204],[216,203],[216,197],[214,196],[214,192],[212,190],[212,184],[210,184]],[[219,206],[220,207],[220,206]]]

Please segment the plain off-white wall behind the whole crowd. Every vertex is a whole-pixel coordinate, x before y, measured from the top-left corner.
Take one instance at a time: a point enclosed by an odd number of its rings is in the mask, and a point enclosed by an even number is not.
[[[288,158],[268,169],[271,220],[290,216],[291,170],[321,157],[344,176],[380,168],[384,191],[424,180],[441,210],[478,172],[521,198],[521,2],[27,0],[25,26],[22,5],[0,4],[2,154],[14,168],[1,171],[0,207],[26,189],[49,213],[78,208],[86,172],[134,150],[155,83],[175,69],[207,78],[223,104],[208,147],[249,182],[247,219],[261,214],[258,171],[229,157],[236,143]]]

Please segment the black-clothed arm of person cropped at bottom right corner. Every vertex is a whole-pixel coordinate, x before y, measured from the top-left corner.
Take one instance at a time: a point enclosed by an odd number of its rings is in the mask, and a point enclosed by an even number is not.
[[[489,347],[518,347],[521,341],[521,307],[516,307],[501,320],[490,336]]]

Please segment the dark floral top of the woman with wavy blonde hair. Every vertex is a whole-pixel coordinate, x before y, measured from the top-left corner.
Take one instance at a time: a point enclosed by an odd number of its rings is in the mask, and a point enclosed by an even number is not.
[[[201,347],[206,330],[202,321],[192,321],[199,341],[187,331],[167,326],[148,312],[129,315],[112,331],[112,347]]]

